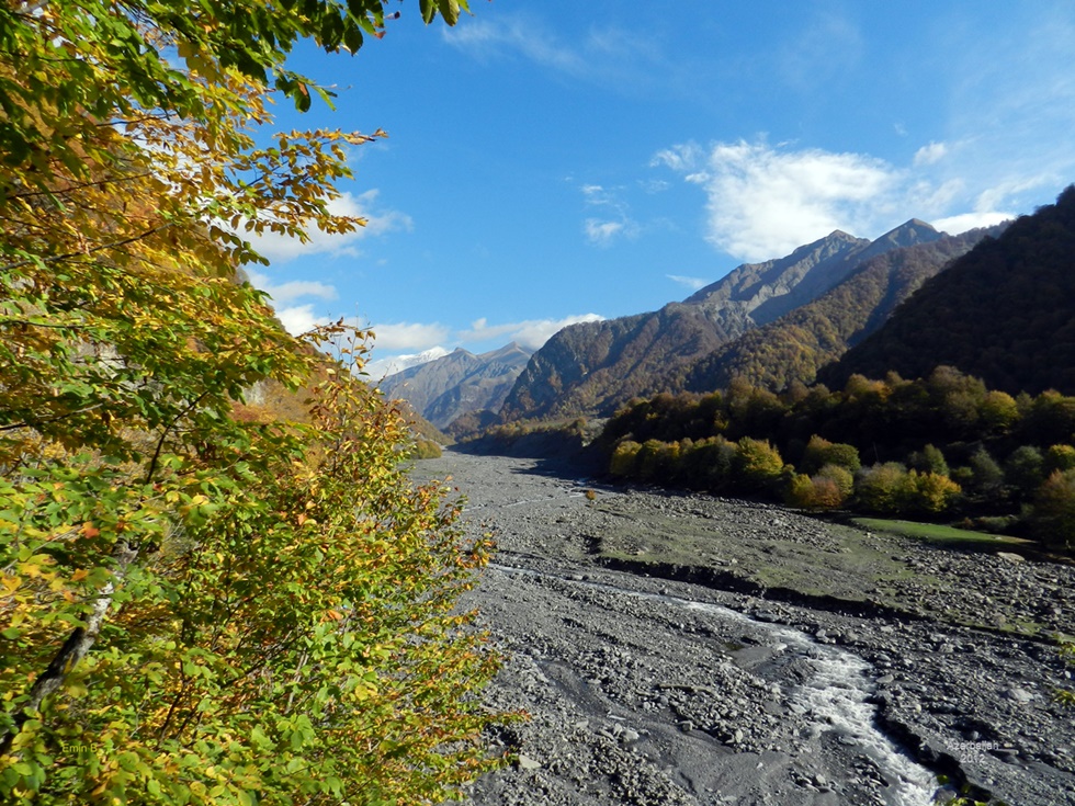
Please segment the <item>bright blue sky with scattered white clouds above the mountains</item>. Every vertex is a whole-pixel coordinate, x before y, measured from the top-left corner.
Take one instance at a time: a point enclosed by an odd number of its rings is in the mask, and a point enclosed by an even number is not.
[[[472,0],[454,29],[397,8],[353,58],[295,54],[335,112],[278,112],[388,133],[337,202],[369,226],[262,240],[253,275],[290,329],[372,326],[374,375],[653,310],[834,229],[992,224],[1075,181],[1066,1]]]

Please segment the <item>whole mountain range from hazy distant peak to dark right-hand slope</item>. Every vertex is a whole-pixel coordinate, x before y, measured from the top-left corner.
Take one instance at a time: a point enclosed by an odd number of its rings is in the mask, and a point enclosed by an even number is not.
[[[779,390],[949,363],[1012,394],[1073,390],[1073,256],[1071,189],[1014,224],[958,236],[914,218],[873,241],[837,230],[659,310],[564,328],[532,355],[456,350],[383,387],[441,428],[454,421],[457,436],[608,416],[633,397],[736,377]]]

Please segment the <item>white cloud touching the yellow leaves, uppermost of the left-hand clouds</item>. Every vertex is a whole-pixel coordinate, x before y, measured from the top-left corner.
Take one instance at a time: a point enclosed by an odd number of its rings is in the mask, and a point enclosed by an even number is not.
[[[284,263],[299,256],[330,254],[332,257],[355,256],[359,241],[371,236],[383,235],[397,229],[410,229],[410,216],[393,209],[378,209],[378,191],[370,190],[359,195],[343,193],[328,202],[328,209],[335,215],[353,216],[365,219],[365,226],[346,235],[322,232],[316,227],[303,243],[298,238],[268,232],[248,237],[253,248],[272,263]]]

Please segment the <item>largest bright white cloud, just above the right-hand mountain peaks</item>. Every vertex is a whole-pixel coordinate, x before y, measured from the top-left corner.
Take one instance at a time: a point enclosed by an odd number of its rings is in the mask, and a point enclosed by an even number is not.
[[[964,146],[930,143],[899,168],[870,155],[739,140],[706,152],[675,146],[650,164],[672,168],[705,192],[706,240],[760,261],[836,229],[875,238],[912,217],[949,232],[989,226],[1011,217],[1007,209],[1019,193],[1048,182],[1036,174],[985,184],[971,169],[953,173],[951,158]]]

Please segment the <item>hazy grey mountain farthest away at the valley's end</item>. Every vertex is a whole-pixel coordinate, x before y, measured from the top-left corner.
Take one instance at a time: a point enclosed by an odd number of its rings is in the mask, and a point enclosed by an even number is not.
[[[381,389],[407,400],[438,428],[475,409],[499,409],[530,360],[530,350],[511,342],[480,355],[457,348],[446,355],[389,375]]]

